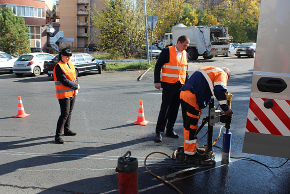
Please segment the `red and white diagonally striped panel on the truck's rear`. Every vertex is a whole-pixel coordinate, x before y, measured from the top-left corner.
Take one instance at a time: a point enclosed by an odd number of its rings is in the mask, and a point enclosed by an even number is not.
[[[273,106],[264,107],[271,100]],[[250,98],[246,132],[290,136],[290,100]]]

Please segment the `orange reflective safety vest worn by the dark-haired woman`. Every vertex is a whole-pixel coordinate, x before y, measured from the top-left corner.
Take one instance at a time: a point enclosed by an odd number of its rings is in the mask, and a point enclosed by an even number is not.
[[[60,68],[63,71],[63,73],[65,74],[66,78],[68,80],[76,83],[76,75],[75,75],[75,69],[74,69],[73,64],[71,62],[68,62],[68,65],[70,68],[68,68],[67,65],[65,65],[61,61],[59,61],[57,64],[60,66]],[[56,67],[56,65],[55,65],[55,67]],[[63,98],[69,98],[69,97],[74,96],[75,95],[74,89],[67,87],[67,86],[64,86],[60,81],[58,81],[56,79],[55,67],[53,69],[53,78],[54,78],[54,85],[55,85],[55,89],[56,89],[56,98],[63,99]]]

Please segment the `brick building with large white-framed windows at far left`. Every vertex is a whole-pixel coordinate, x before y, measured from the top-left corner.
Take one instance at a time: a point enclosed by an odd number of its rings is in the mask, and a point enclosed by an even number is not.
[[[15,15],[24,18],[29,28],[30,47],[41,48],[43,52],[58,52],[57,46],[52,48],[49,41],[57,34],[60,26],[59,11],[52,11],[52,0],[0,0],[0,8],[6,6],[11,7]]]

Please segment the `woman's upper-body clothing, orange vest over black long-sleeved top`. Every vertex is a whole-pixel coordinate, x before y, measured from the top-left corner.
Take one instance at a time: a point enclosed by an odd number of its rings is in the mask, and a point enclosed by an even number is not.
[[[53,69],[54,85],[58,99],[74,96],[75,90],[77,89],[77,78],[74,66],[71,62],[67,64],[69,67],[59,61]]]

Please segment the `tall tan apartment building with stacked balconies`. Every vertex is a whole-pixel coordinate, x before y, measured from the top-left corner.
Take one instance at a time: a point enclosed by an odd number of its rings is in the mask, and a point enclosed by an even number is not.
[[[101,0],[58,0],[60,12],[60,30],[67,39],[74,41],[60,42],[59,47],[83,49],[94,43],[96,29],[91,26],[89,9],[100,6]]]

